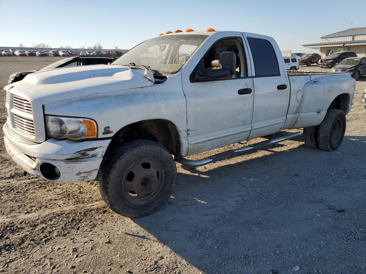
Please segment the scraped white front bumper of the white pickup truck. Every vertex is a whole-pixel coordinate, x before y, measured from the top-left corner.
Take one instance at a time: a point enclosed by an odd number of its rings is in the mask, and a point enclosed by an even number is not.
[[[60,171],[58,182],[94,180],[110,139],[71,141],[48,139],[43,143],[22,140],[3,126],[5,149],[10,157],[25,171],[46,179],[41,171],[42,163],[54,165]],[[24,142],[23,142],[24,141]]]

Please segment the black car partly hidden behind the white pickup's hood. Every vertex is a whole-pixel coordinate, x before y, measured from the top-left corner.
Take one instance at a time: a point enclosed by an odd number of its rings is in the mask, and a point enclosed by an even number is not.
[[[63,68],[68,66],[86,66],[86,65],[97,65],[97,64],[108,64],[109,62],[114,61],[116,58],[113,57],[91,57],[91,56],[72,56],[61,59],[57,62],[52,63],[51,65],[45,66],[42,69],[34,70],[34,71],[21,71],[13,73],[9,76],[8,83],[15,83],[20,80],[23,80],[28,74],[37,71],[45,71],[46,69],[54,69],[54,68]]]

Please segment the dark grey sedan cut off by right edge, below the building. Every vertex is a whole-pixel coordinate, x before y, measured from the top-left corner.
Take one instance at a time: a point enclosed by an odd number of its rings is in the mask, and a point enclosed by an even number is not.
[[[332,69],[334,72],[349,72],[356,81],[366,75],[366,57],[348,57],[340,61]]]

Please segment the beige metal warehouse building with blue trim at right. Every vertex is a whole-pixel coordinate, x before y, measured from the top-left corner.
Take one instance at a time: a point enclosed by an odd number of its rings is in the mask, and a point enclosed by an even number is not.
[[[321,42],[306,44],[303,47],[320,49],[322,58],[333,52],[349,50],[355,52],[358,57],[366,56],[366,27],[350,28],[320,37]]]

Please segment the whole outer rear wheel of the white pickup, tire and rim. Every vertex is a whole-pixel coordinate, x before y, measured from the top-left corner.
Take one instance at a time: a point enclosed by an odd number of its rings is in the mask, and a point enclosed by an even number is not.
[[[325,151],[339,148],[346,132],[346,114],[342,110],[328,110],[324,120],[318,126],[318,145]]]

